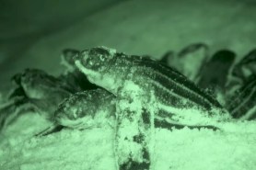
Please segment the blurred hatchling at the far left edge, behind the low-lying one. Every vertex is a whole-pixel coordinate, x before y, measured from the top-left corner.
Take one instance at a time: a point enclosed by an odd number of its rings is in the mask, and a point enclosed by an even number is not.
[[[52,119],[56,106],[74,93],[69,85],[39,69],[26,69],[14,75],[13,80],[17,87],[8,96],[6,106],[0,109],[1,130],[28,111]]]

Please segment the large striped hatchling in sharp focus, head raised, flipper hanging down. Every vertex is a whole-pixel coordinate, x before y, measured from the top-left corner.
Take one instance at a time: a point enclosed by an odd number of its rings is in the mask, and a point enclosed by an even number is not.
[[[91,83],[116,96],[120,169],[153,168],[154,119],[181,125],[229,119],[212,96],[160,62],[105,47],[81,51],[74,60]]]

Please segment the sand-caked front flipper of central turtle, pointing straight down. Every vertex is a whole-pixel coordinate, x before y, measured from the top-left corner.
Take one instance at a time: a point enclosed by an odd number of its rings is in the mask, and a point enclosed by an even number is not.
[[[136,88],[123,88],[118,95],[115,153],[119,170],[149,170],[153,166],[154,110],[148,110],[152,103],[146,107],[143,94]]]

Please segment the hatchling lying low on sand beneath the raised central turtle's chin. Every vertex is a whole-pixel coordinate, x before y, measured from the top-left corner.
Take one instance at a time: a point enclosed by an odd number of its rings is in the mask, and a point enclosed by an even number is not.
[[[52,126],[37,136],[65,128],[84,130],[115,123],[115,96],[98,88],[66,97],[56,108]]]

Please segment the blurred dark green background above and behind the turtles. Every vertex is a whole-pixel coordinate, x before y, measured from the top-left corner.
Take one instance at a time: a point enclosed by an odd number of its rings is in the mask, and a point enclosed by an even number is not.
[[[12,74],[60,74],[64,48],[109,46],[159,58],[193,42],[245,55],[256,42],[254,0],[2,0],[0,89]]]

